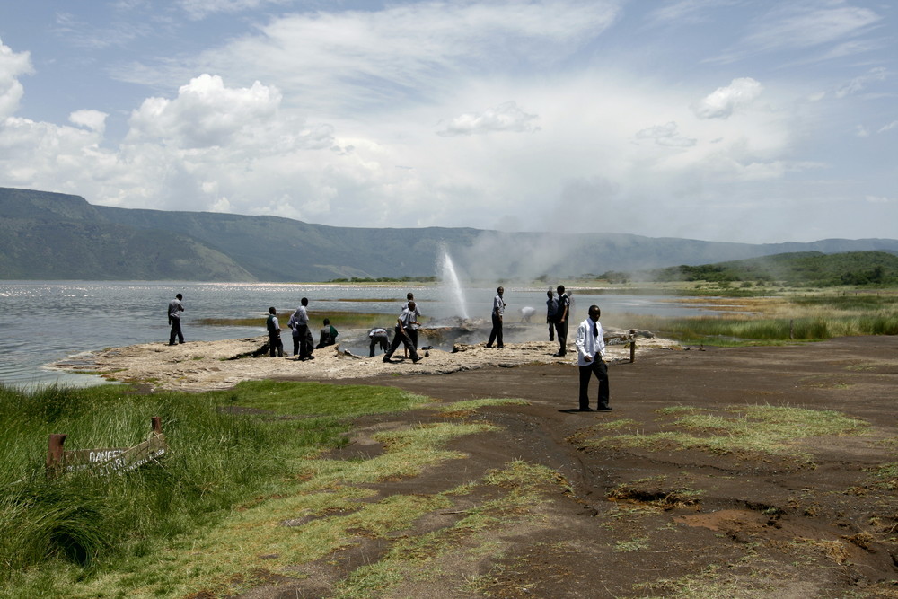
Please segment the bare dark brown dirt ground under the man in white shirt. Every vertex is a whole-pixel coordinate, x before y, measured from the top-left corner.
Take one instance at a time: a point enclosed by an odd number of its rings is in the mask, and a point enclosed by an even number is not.
[[[378,430],[447,419],[496,427],[454,441],[451,448],[466,457],[450,468],[372,485],[380,499],[441,493],[515,461],[560,475],[558,484],[543,486],[543,501],[528,517],[509,516],[507,525],[459,538],[430,576],[365,596],[898,597],[898,338],[646,348],[634,363],[619,348],[609,368],[613,410],[603,413],[573,410],[577,368],[569,356],[550,358],[550,348],[540,347],[527,351],[545,359],[503,361],[492,351],[476,367],[416,373],[425,360],[383,365],[389,368],[362,378],[328,377],[332,384],[389,385],[443,402],[526,401],[454,414],[431,404],[360,418],[353,442],[334,457],[382,452],[371,440]],[[622,431],[669,427],[658,411],[665,408],[752,405],[837,410],[868,427],[859,435],[796,435],[793,451],[781,455],[601,444]],[[448,530],[483,499],[458,496],[452,509],[396,538]],[[360,535],[345,551],[269,573],[239,596],[334,596],[340,580],[383,559],[392,542]]]

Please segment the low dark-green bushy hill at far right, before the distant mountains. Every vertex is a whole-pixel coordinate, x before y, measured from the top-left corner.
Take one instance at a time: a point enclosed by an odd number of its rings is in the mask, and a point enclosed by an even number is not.
[[[789,285],[896,285],[898,256],[885,251],[823,254],[805,251],[698,266],[654,270],[657,281],[734,283],[761,281]]]

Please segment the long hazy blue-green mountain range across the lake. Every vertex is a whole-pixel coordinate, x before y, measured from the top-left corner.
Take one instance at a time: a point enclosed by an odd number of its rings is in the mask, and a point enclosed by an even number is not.
[[[727,243],[623,233],[375,229],[277,216],[93,206],[80,196],[0,188],[0,278],[329,281],[439,276],[444,251],[465,277],[552,283],[784,252],[887,251],[894,239]]]

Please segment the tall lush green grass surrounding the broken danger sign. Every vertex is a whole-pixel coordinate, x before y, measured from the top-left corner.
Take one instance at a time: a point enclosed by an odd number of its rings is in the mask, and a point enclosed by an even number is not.
[[[37,596],[36,588],[58,585],[60,577],[139,570],[166,540],[189,537],[251,498],[295,486],[291,465],[346,443],[348,424],[340,418],[421,401],[398,390],[317,383],[153,395],[126,386],[0,385],[0,595],[15,596],[5,593],[17,589],[17,596]],[[136,445],[153,416],[162,418],[169,445],[159,462],[110,476],[45,475],[49,434],[65,433],[68,450]]]

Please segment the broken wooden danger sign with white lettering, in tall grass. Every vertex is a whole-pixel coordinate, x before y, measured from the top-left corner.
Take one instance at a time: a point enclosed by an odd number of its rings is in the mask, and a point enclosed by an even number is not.
[[[162,457],[168,451],[163,435],[162,420],[152,419],[153,429],[143,443],[133,447],[106,447],[65,451],[66,435],[50,435],[47,452],[47,474],[91,469],[97,474],[132,471]]]

